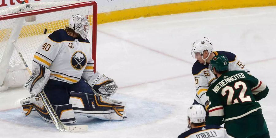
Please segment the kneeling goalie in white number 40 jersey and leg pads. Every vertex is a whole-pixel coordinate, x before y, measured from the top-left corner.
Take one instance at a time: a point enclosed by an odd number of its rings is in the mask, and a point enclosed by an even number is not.
[[[64,124],[76,121],[74,112],[103,120],[125,118],[125,102],[106,98],[116,92],[116,83],[98,71],[94,73],[88,31],[89,21],[77,14],[69,19],[66,29],[50,34],[34,55],[33,76],[25,85],[34,95],[44,88]],[[40,98],[26,98],[21,105],[26,116],[36,116],[36,110],[52,122]]]

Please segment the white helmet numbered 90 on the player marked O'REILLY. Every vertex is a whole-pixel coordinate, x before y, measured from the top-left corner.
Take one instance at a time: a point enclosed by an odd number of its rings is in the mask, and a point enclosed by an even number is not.
[[[191,123],[203,123],[205,122],[206,112],[202,105],[192,105],[188,108],[187,116]]]

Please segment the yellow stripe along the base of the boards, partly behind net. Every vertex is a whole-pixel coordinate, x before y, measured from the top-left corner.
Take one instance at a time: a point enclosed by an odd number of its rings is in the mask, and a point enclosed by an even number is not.
[[[276,0],[202,0],[138,7],[98,13],[98,24],[140,17],[261,6],[276,6]],[[93,15],[89,15],[88,19],[90,20],[90,25],[92,25]],[[47,29],[47,33],[52,33],[55,30],[64,29],[65,25],[68,25],[68,19],[26,25],[22,27],[19,38],[43,34],[44,29]],[[0,42],[5,40],[6,36],[10,36],[11,30],[12,28],[0,30]]]

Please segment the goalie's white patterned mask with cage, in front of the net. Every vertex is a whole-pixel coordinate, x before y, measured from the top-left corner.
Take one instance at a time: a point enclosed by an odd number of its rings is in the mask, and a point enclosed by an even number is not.
[[[89,31],[89,21],[85,16],[82,15],[72,15],[69,19],[69,28],[75,30],[75,33],[79,33],[83,39],[86,39]]]

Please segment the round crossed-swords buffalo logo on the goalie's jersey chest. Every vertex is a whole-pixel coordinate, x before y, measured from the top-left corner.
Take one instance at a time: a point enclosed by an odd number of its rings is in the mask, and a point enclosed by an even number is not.
[[[71,65],[76,70],[81,70],[86,64],[86,56],[81,51],[76,51],[71,57]]]

